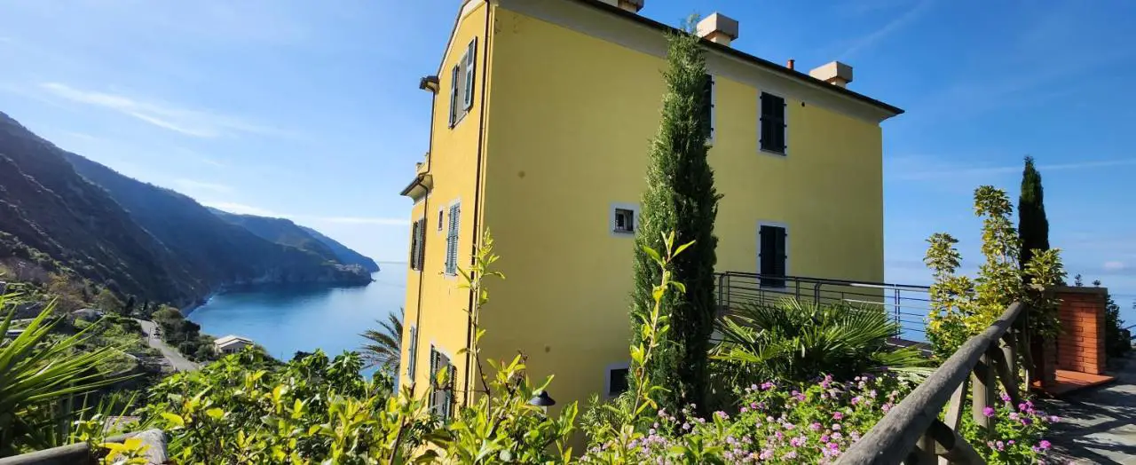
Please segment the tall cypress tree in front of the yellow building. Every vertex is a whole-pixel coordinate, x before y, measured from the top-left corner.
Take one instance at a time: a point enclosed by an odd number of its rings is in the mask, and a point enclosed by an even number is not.
[[[635,235],[632,327],[638,315],[650,312],[651,289],[661,274],[643,251],[662,251],[662,235],[675,233],[675,244],[694,241],[671,263],[674,281],[686,285],[685,293],[668,292],[662,307],[670,316],[670,331],[661,341],[655,362],[648,366],[652,383],[667,389],[657,396],[660,407],[677,412],[682,405],[704,408],[708,392],[708,356],[713,330],[713,267],[717,263],[713,223],[720,196],[713,186],[713,172],[707,161],[710,136],[710,82],[699,39],[687,32],[668,38],[668,69],[663,72],[667,91],[662,97],[659,131],[650,144],[646,191]],[[638,342],[641,333],[633,331]],[[634,382],[634,379],[632,379]]]

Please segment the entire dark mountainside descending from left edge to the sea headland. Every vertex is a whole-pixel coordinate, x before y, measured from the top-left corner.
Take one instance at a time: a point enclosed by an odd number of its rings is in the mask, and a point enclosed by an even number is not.
[[[265,240],[0,113],[0,261],[59,264],[120,293],[178,305],[234,284],[370,282],[323,254]]]

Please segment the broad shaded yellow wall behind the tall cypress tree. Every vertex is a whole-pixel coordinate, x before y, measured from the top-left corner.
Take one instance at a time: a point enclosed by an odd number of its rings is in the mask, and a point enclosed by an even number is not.
[[[488,356],[554,373],[561,405],[627,362],[633,239],[612,202],[637,204],[663,93],[662,58],[506,9],[495,13],[485,225],[499,269],[484,310]],[[659,35],[661,41],[661,34]],[[717,77],[710,151],[718,268],[757,271],[760,221],[788,225],[792,274],[883,279],[879,126],[788,99],[788,157],[758,151],[759,90]]]

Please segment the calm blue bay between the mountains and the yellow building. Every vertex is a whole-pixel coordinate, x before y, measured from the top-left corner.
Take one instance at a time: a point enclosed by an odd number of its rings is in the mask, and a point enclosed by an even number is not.
[[[375,282],[344,289],[265,289],[216,296],[190,314],[201,331],[252,339],[277,359],[296,350],[324,349],[329,356],[364,343],[359,333],[376,319],[399,313],[406,297],[406,273],[398,265],[371,275]]]

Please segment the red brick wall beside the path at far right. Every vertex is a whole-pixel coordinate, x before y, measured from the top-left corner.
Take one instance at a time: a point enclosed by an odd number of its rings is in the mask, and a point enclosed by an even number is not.
[[[1104,373],[1103,288],[1058,288],[1062,333],[1056,340],[1058,369]]]

